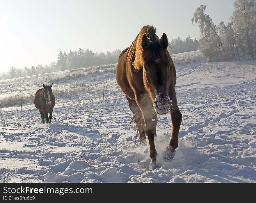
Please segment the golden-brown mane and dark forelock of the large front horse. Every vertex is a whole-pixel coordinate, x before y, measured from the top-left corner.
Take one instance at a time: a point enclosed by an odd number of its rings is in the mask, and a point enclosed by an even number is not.
[[[133,64],[135,71],[139,71],[143,67],[143,49],[141,42],[145,33],[147,34],[150,42],[155,42],[150,45],[153,56],[159,53],[159,38],[156,35],[156,29],[152,25],[144,26],[127,51],[128,60]]]

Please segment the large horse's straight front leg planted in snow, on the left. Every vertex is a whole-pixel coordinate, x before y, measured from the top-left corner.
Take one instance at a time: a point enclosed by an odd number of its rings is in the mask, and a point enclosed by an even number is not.
[[[143,119],[145,121],[145,132],[150,146],[150,170],[157,168],[157,150],[154,144],[154,136],[156,135],[156,125],[152,120],[153,106],[152,101],[147,94],[138,95],[136,102],[141,109]]]

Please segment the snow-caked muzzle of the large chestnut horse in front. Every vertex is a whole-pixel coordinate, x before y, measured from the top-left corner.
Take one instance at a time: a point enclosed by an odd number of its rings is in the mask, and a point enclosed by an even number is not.
[[[160,94],[158,94],[154,101],[154,108],[158,114],[166,114],[169,112],[171,102],[168,95],[160,97]]]

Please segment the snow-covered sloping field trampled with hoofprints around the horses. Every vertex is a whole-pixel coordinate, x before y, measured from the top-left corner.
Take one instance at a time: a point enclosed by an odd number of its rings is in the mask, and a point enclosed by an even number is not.
[[[69,98],[56,98],[52,124],[40,124],[33,104],[25,105],[24,111],[1,109],[0,181],[256,182],[256,62],[201,63],[175,62],[183,120],[170,163],[162,158],[170,138],[170,115],[158,115],[155,144],[160,168],[150,171],[148,143],[134,143],[135,124],[130,124],[132,113],[115,72],[96,72],[58,84],[68,88],[84,81],[95,88],[74,96],[72,106]],[[47,81],[44,74],[36,77]],[[35,76],[24,78],[24,83],[3,81],[0,97],[35,92],[41,86],[35,84]],[[101,86],[108,88],[97,88]]]

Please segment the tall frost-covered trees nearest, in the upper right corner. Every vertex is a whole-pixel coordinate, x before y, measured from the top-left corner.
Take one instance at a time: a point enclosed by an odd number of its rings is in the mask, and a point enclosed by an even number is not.
[[[196,8],[192,24],[199,26],[198,50],[209,61],[254,60],[256,56],[256,0],[236,0],[229,22],[215,25],[205,5]]]

